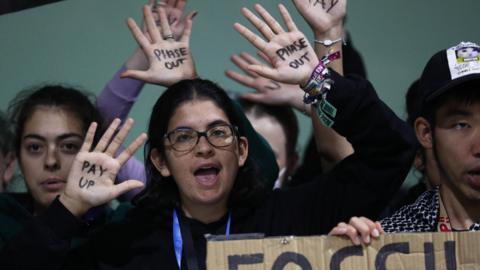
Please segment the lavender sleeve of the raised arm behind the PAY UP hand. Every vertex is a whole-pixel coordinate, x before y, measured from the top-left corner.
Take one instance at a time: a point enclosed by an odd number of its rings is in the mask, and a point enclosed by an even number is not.
[[[125,121],[144,85],[143,81],[120,78],[120,74],[122,74],[123,71],[125,71],[125,66],[122,66],[120,70],[115,73],[97,97],[97,108],[107,122],[113,121],[116,117],[120,118],[122,122]],[[117,175],[117,182],[130,179],[142,181],[144,184],[147,181],[145,167],[143,163],[135,157],[129,159]],[[120,199],[122,201],[131,200],[140,191],[141,189],[129,191],[122,195]]]

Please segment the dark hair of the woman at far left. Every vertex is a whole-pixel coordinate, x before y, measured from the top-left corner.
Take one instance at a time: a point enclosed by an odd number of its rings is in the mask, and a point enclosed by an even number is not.
[[[73,87],[52,84],[36,86],[21,91],[9,103],[8,115],[14,130],[14,146],[20,156],[20,145],[25,122],[30,119],[39,106],[58,107],[78,117],[83,125],[84,134],[90,123],[97,122],[95,142],[105,130],[104,121],[94,105],[94,95]]]

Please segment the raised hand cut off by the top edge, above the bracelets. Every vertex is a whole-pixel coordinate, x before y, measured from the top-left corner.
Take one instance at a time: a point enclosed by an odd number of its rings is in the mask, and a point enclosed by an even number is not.
[[[323,35],[332,28],[343,26],[347,14],[347,0],[292,0],[315,35]]]

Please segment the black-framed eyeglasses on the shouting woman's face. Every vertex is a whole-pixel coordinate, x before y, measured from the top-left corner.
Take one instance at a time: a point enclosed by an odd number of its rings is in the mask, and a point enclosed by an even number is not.
[[[179,152],[192,150],[204,136],[208,143],[215,147],[229,146],[235,140],[237,127],[228,124],[220,124],[200,132],[192,128],[177,128],[164,135],[169,146]]]

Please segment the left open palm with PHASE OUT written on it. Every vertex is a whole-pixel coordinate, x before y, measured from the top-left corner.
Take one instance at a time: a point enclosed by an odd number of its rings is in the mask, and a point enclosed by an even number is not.
[[[130,77],[149,83],[169,86],[183,79],[196,77],[195,66],[190,53],[189,40],[192,30],[192,19],[185,22],[183,34],[178,41],[173,38],[164,8],[158,8],[160,25],[156,26],[151,8],[143,8],[148,35],[142,33],[132,18],[128,19],[128,27],[135,40],[147,56],[147,70],[127,70],[122,77]]]

